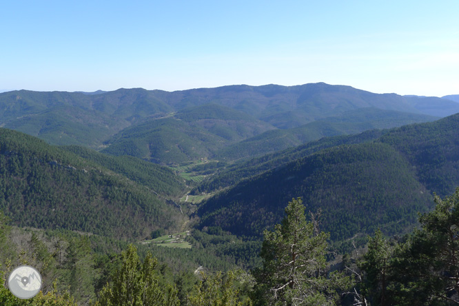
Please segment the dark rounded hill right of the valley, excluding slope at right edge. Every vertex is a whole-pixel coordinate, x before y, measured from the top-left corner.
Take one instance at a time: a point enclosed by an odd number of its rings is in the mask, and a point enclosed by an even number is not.
[[[334,241],[378,227],[398,232],[431,203],[401,154],[383,143],[366,143],[323,150],[242,181],[207,200],[198,214],[201,226],[259,235],[281,220],[281,203],[296,196],[308,210],[322,210],[323,230]]]

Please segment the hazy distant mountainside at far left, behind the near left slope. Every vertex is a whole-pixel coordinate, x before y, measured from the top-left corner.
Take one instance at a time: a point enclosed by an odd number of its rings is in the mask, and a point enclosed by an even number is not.
[[[0,127],[52,144],[98,148],[136,120],[170,110],[141,89],[93,95],[19,90],[0,94]]]

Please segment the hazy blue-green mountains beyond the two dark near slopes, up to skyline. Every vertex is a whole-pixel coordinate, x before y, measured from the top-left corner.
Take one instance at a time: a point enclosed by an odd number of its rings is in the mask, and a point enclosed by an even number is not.
[[[459,104],[447,99],[373,94],[325,83],[0,94],[0,127],[54,145],[83,145],[162,164],[232,161],[323,136],[432,121],[456,112]]]

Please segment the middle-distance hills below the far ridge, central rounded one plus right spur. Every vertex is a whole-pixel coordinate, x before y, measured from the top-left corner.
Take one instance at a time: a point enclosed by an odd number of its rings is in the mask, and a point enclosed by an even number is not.
[[[202,158],[234,161],[285,150],[327,136],[434,119],[436,117],[422,114],[362,108],[298,128],[273,130],[272,126],[247,114],[210,104],[127,128],[114,135],[103,152],[128,154],[166,164]]]

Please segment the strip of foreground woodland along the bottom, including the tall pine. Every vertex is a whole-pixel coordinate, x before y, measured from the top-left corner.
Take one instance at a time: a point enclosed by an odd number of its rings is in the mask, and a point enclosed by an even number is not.
[[[174,271],[151,249],[72,232],[12,229],[1,215],[3,280],[16,265],[34,265],[43,290],[20,300],[0,287],[3,305],[456,305],[459,302],[459,189],[436,196],[420,228],[398,238],[380,230],[367,249],[332,268],[329,234],[307,221],[300,198],[265,230],[261,263],[250,272]],[[113,250],[123,249],[121,254]],[[161,248],[160,248],[161,249]],[[146,252],[146,254],[145,254]],[[153,251],[154,252],[154,251]],[[144,254],[142,256],[142,254]]]

